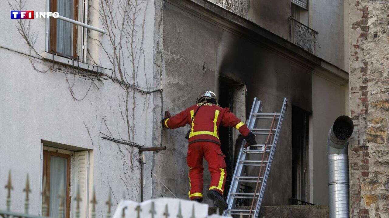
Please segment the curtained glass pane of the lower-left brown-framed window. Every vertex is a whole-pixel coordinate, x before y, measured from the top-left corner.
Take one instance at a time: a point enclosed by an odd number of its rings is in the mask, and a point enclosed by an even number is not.
[[[67,190],[67,159],[63,157],[51,156],[50,158],[50,217],[60,217],[58,207],[60,206],[60,199],[58,192],[61,184],[63,185],[64,195]],[[65,199],[65,198],[64,198]],[[63,201],[63,218],[66,213],[66,200]]]

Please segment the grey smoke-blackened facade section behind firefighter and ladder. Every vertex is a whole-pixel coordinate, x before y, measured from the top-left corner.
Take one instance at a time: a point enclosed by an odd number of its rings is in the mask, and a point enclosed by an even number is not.
[[[326,6],[335,10],[336,16],[319,10],[322,5],[315,5],[314,1],[308,4],[308,10],[287,0],[250,1],[247,13],[242,9],[244,5],[234,7],[228,2],[233,1],[161,3],[158,28],[159,42],[163,42],[159,52],[165,70],[164,110],[178,113],[191,106],[198,93],[214,90],[223,100],[222,106],[230,106],[245,119],[254,97],[263,100],[263,112],[279,111],[282,99],[287,97],[287,116],[268,180],[269,194],[263,204],[289,205],[291,197],[328,204],[328,130],[337,116],[348,111],[343,2]],[[321,31],[325,24],[319,19],[328,19],[331,25],[341,22],[333,27],[335,32]],[[336,38],[337,32],[342,32],[342,36]],[[336,38],[337,42],[328,38]],[[331,58],[326,60],[327,57]],[[245,98],[241,99],[244,90]],[[293,134],[293,129],[298,128],[301,131]],[[163,166],[174,166],[161,168],[163,183],[175,187],[175,195],[182,198],[187,197],[189,190],[188,168],[173,163],[186,162],[186,131],[163,130],[163,144],[168,152],[157,154]],[[227,152],[227,165],[231,165],[227,166],[230,176],[233,171],[229,169],[235,165],[235,139],[233,135],[222,145],[223,152]],[[247,169],[247,173],[254,172]],[[205,178],[207,184],[207,173]],[[230,179],[227,177],[227,187]],[[166,191],[166,195],[170,194]]]

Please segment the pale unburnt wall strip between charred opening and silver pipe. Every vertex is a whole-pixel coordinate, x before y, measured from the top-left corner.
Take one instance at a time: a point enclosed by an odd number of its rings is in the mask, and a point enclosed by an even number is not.
[[[338,116],[345,115],[346,85],[337,85],[312,74],[312,117],[310,120],[310,202],[328,204],[327,138]]]

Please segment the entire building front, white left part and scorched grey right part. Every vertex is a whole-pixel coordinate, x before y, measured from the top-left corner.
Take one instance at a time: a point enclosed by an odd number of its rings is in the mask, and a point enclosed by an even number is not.
[[[0,40],[6,127],[0,176],[10,170],[13,186],[21,189],[29,173],[30,198],[39,199],[31,213],[42,213],[45,185],[53,207],[61,184],[68,199],[80,185],[88,199],[85,215],[93,189],[99,202],[111,193],[114,206],[123,192],[133,201],[187,198],[187,128],[165,130],[159,121],[164,111],[182,111],[205,90],[214,90],[221,106],[242,120],[254,97],[263,101],[263,112],[279,111],[287,97],[263,204],[290,205],[291,198],[328,204],[328,130],[349,111],[347,4],[239,2],[0,0],[6,5],[0,26],[7,30]],[[102,31],[53,18],[10,21],[10,10],[55,10]],[[220,131],[232,176],[238,133]],[[167,149],[138,152],[158,146]],[[209,180],[205,173],[205,184]],[[14,199],[20,200],[14,207],[23,208],[23,196]],[[67,203],[73,217],[75,205]]]

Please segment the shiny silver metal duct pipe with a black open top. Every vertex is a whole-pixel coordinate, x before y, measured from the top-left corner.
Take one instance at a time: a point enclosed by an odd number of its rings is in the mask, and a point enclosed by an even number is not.
[[[354,124],[348,116],[336,118],[328,133],[329,218],[349,218],[349,138]]]

